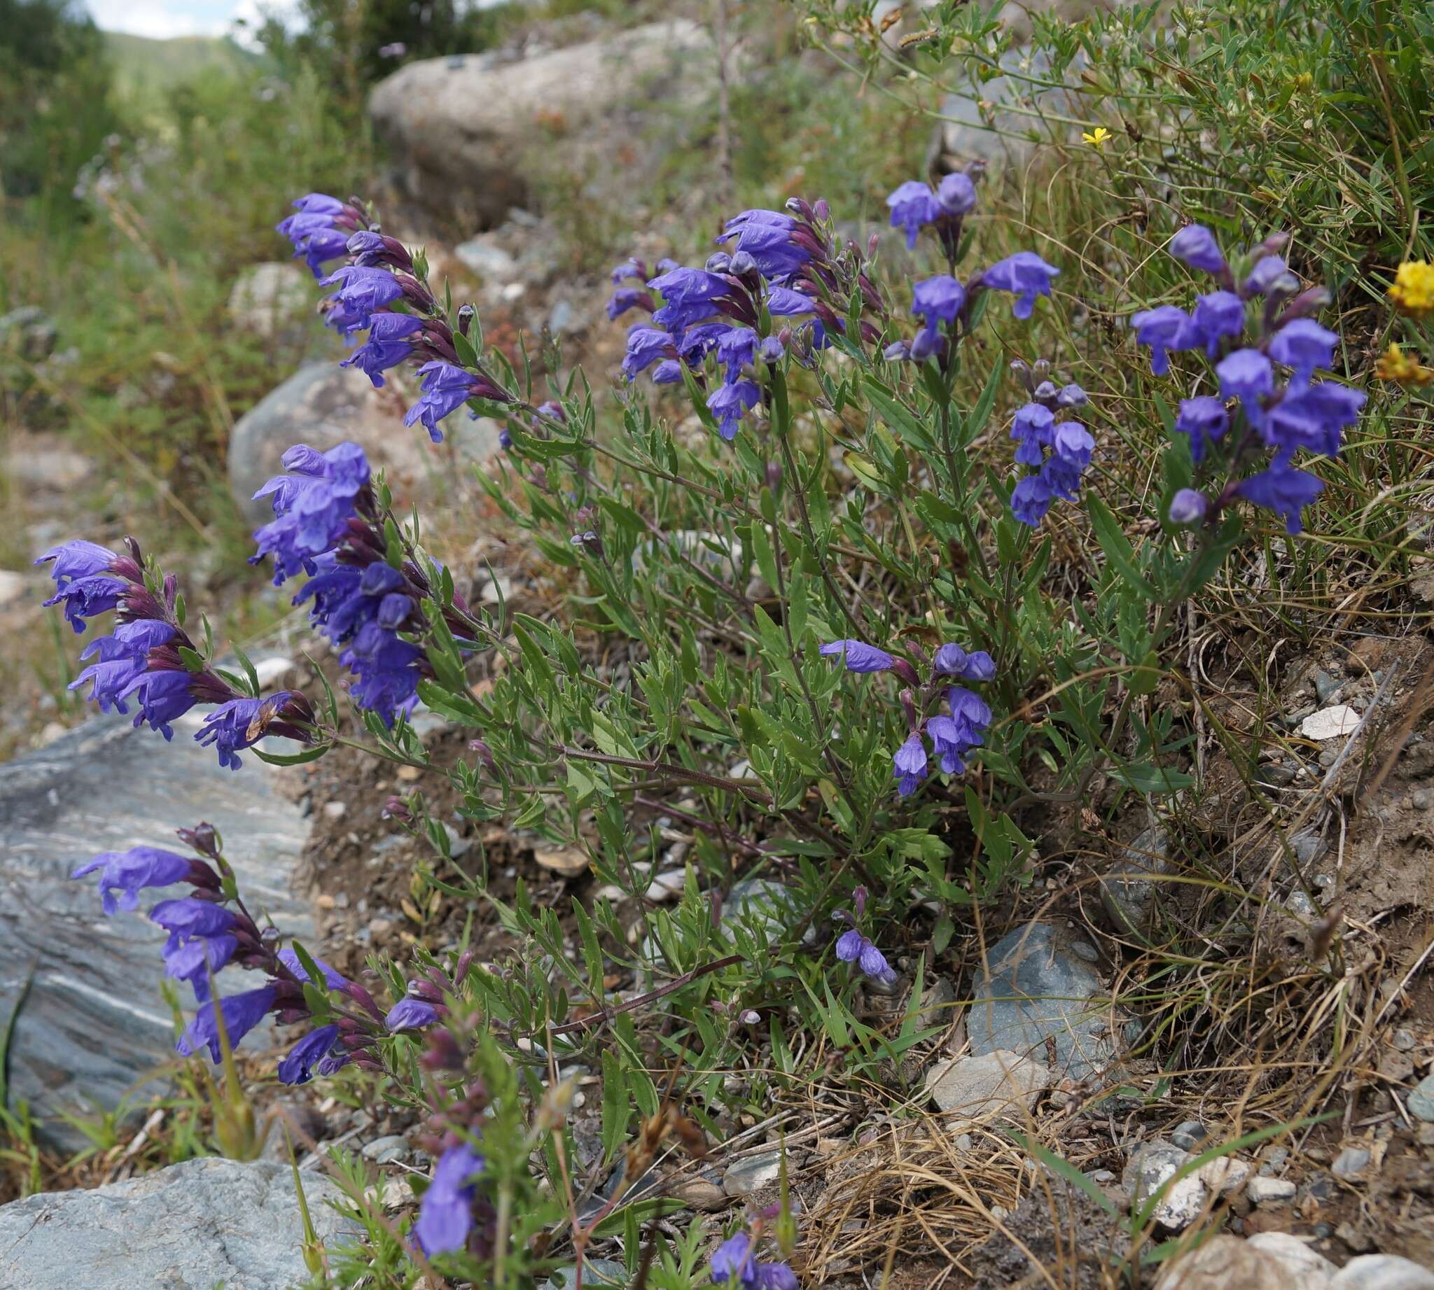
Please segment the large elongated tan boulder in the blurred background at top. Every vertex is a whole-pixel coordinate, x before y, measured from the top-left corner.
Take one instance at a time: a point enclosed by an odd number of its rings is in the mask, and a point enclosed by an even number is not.
[[[426,59],[380,82],[369,112],[406,196],[462,226],[490,228],[529,202],[535,140],[585,139],[605,169],[631,175],[631,150],[654,103],[691,103],[716,86],[706,29],[648,23],[503,62],[496,54]],[[578,149],[581,152],[581,146]]]

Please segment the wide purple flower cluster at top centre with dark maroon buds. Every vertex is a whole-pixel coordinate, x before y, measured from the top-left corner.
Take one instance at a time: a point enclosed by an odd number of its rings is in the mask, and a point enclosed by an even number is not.
[[[704,383],[713,358],[720,383],[707,408],[721,437],[736,439],[741,419],[761,401],[759,363],[774,367],[789,351],[809,361],[830,344],[830,333],[845,330],[833,301],[853,287],[880,308],[856,248],[835,249],[829,219],[826,202],[793,198],[786,211],[743,211],[728,219],[717,238],[724,249],[700,269],[661,261],[648,277],[640,259],[619,264],[608,317],[634,308],[651,314],[628,328],[622,374],[632,381],[651,368],[655,384],[677,384],[685,367]],[[630,280],[647,290],[621,285]],[[862,325],[873,340],[875,328]]]

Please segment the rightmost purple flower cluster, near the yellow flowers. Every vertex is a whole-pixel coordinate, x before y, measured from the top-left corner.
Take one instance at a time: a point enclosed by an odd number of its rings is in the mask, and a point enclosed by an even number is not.
[[[1286,532],[1301,532],[1301,512],[1324,483],[1296,469],[1295,454],[1338,456],[1342,431],[1358,420],[1362,391],[1314,380],[1316,370],[1332,364],[1339,337],[1309,317],[1329,297],[1322,288],[1301,291],[1279,254],[1285,241],[1266,238],[1236,274],[1207,228],[1183,228],[1172,238],[1170,254],[1210,274],[1217,290],[1200,295],[1190,312],[1160,305],[1131,318],[1136,338],[1150,347],[1156,376],[1170,370],[1170,353],[1199,350],[1217,383],[1217,394],[1180,401],[1174,429],[1187,439],[1197,469],[1219,450],[1230,479],[1213,499],[1180,490],[1172,500],[1172,523],[1213,522],[1243,497],[1273,510]],[[1262,449],[1271,452],[1266,467],[1242,479],[1246,460]]]

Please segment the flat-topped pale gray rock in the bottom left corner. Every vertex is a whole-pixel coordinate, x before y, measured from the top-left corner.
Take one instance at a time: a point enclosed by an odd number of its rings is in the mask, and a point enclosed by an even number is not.
[[[343,1193],[304,1175],[318,1238],[354,1240],[326,1204]],[[24,1290],[280,1290],[307,1281],[288,1165],[188,1160],[93,1191],[0,1207],[0,1286]]]

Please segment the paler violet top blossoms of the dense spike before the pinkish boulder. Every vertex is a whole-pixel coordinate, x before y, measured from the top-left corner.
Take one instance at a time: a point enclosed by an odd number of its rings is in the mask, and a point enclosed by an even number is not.
[[[369,487],[369,459],[356,443],[327,453],[297,444],[282,456],[288,474],[271,479],[254,496],[274,497],[274,520],[254,535],[258,550],[250,563],[274,558],[274,585],[300,570],[313,573],[314,560],[344,538],[358,497]]]

